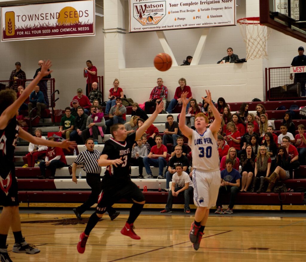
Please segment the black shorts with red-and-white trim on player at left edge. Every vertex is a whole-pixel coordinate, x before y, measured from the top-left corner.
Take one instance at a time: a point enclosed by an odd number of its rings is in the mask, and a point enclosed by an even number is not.
[[[5,179],[2,176],[0,179],[0,205],[4,207],[19,206],[15,169]]]

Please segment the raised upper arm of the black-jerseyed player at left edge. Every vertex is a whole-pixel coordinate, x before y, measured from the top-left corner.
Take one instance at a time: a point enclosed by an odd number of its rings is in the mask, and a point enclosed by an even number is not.
[[[22,103],[30,96],[34,87],[38,84],[39,80],[41,80],[44,76],[48,75],[52,72],[48,71],[48,69],[52,66],[51,61],[44,61],[43,67],[41,68],[40,74],[32,80],[32,82],[24,89],[20,97],[11,104],[6,110],[4,110],[0,116],[0,129],[6,128],[7,123],[11,120],[15,115],[19,107]]]

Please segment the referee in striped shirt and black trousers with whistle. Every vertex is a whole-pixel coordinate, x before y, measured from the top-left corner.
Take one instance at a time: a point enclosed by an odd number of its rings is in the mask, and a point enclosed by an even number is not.
[[[86,140],[85,146],[87,150],[78,154],[72,166],[72,181],[77,183],[76,166],[84,164],[84,168],[86,171],[86,182],[91,187],[91,194],[89,195],[85,203],[77,208],[73,208],[73,212],[75,213],[78,219],[82,219],[81,215],[93,204],[97,203],[99,193],[101,192],[100,174],[102,168],[98,165],[98,160],[100,158],[101,153],[99,152],[99,150],[94,150],[95,144],[92,138],[88,138]],[[106,211],[110,216],[110,220],[114,220],[120,214],[120,212],[116,212],[116,210],[112,207],[106,208]]]

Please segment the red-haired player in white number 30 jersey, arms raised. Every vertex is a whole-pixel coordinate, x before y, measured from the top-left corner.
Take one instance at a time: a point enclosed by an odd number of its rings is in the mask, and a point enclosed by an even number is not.
[[[188,137],[188,144],[192,151],[192,182],[194,186],[193,200],[197,206],[195,220],[191,224],[189,239],[195,250],[200,247],[203,230],[205,228],[209,209],[216,205],[220,187],[220,163],[217,146],[217,131],[221,125],[221,116],[211,101],[211,93],[206,90],[207,97],[203,100],[211,106],[215,120],[207,128],[208,118],[199,113],[195,116],[195,128],[192,130],[185,125],[186,106],[192,99],[187,99],[187,92],[182,93],[182,111],[179,120],[179,129]]]

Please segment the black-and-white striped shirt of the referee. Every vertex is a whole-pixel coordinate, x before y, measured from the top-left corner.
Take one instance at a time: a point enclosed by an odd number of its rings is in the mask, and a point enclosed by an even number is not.
[[[77,165],[84,164],[86,173],[101,174],[102,168],[98,165],[100,155],[99,150],[88,151],[86,149],[77,155],[74,163]]]

